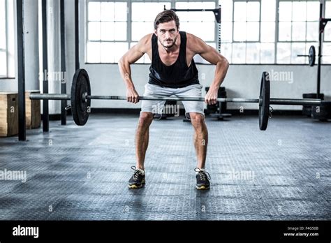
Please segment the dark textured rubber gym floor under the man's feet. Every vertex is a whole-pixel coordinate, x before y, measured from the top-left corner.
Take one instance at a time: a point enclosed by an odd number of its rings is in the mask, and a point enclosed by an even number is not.
[[[195,188],[193,128],[182,117],[154,120],[147,184],[128,189],[138,115],[91,115],[86,126],[50,122],[27,142],[1,138],[1,220],[330,219],[330,122],[256,116],[207,117],[211,189]]]

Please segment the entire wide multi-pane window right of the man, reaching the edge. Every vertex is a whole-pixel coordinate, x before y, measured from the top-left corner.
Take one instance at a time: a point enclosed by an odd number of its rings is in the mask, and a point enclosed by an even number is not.
[[[221,3],[221,53],[232,64],[307,64],[307,57],[297,54],[307,54],[311,45],[318,47],[319,1]],[[326,1],[325,17],[330,15],[331,1]],[[330,25],[325,27],[324,55],[331,52]],[[323,57],[323,63],[330,64],[330,57]]]

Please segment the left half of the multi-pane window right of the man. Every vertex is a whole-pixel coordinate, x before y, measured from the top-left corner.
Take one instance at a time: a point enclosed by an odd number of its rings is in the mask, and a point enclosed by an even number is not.
[[[221,53],[230,63],[274,64],[275,29],[276,0],[222,1]]]

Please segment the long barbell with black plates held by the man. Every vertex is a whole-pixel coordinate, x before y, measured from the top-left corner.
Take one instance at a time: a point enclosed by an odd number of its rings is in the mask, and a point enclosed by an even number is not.
[[[73,120],[78,126],[84,126],[89,119],[91,100],[126,100],[126,96],[92,96],[89,75],[84,69],[78,69],[73,75],[71,94],[35,94],[29,96],[31,100],[71,100]],[[203,97],[165,97],[139,96],[145,101],[205,101]],[[309,98],[270,98],[269,73],[263,72],[260,82],[259,98],[217,98],[218,102],[258,103],[258,121],[260,130],[267,129],[270,115],[270,105],[321,105],[320,99]]]

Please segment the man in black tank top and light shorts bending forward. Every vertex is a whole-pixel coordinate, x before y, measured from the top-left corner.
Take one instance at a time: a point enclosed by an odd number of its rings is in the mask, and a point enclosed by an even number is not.
[[[205,60],[216,65],[214,81],[205,96],[205,103],[216,103],[217,91],[228,71],[228,61],[214,48],[193,34],[179,31],[179,18],[172,10],[164,10],[156,16],[154,33],[144,36],[119,60],[119,71],[126,84],[127,101],[138,103],[139,95],[131,79],[130,65],[145,53],[152,60],[149,68],[149,82],[145,85],[144,96],[201,96],[202,85],[193,57],[200,54]],[[149,140],[149,125],[153,111],[161,112],[165,101],[142,101],[138,128],[135,134],[136,165],[128,182],[130,188],[145,184],[145,154]],[[208,132],[205,124],[203,103],[183,101],[186,117],[191,119],[195,130],[194,146],[197,155],[196,188],[209,189],[209,174],[205,171]]]

